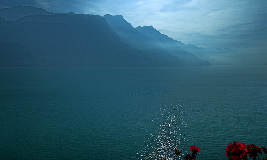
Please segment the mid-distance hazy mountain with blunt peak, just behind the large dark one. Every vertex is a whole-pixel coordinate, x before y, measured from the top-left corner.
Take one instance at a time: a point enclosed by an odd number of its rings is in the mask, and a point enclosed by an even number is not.
[[[161,37],[158,38],[158,35],[155,33],[143,32],[143,30],[139,30],[138,27],[134,28],[129,22],[124,20],[121,15],[112,16],[107,14],[103,17],[107,20],[113,30],[122,38],[122,41],[129,44],[131,47],[144,50],[150,54],[165,54],[171,59],[172,57],[170,55],[177,56],[181,58],[183,65],[210,65],[208,62],[202,61],[197,56],[188,53],[178,46],[176,46],[176,48],[171,47],[170,45],[167,46],[166,43],[168,42],[163,43],[160,41],[159,39]],[[158,32],[157,30],[155,31]],[[160,32],[158,33],[161,34]]]

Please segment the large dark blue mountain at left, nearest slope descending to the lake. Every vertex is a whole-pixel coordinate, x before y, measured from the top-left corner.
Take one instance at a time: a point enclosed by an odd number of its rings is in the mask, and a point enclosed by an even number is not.
[[[18,42],[13,46],[24,44],[44,57],[42,66],[177,66],[180,63],[179,58],[170,62],[129,47],[101,16],[35,14],[19,18],[17,24],[4,18],[0,21],[1,42]],[[7,58],[8,51],[1,47],[1,59]],[[12,58],[13,54],[9,55]],[[25,63],[25,66],[39,64]]]

